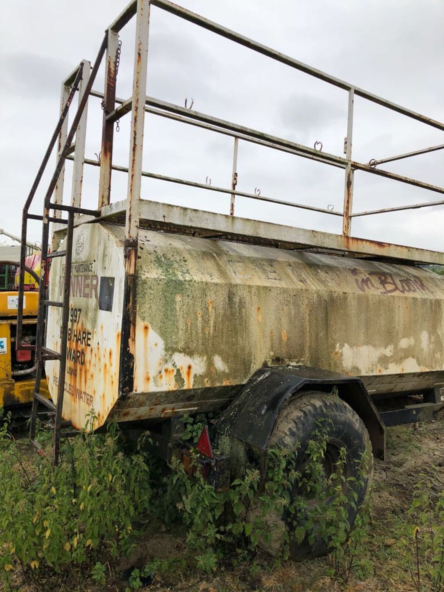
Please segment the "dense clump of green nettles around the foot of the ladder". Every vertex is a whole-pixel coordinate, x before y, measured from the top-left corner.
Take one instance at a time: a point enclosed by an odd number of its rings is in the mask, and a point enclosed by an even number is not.
[[[90,418],[94,421],[94,416]],[[150,504],[149,469],[140,451],[125,454],[116,424],[102,435],[83,434],[63,446],[63,460],[25,458],[0,429],[0,577],[21,568],[63,574],[87,567],[104,581],[102,556],[117,559],[134,544],[134,522]],[[40,574],[39,574],[40,577]]]

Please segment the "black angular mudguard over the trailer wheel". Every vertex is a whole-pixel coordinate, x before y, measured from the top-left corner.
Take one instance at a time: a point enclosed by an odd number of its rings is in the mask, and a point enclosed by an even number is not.
[[[384,460],[385,427],[361,379],[308,366],[271,366],[256,371],[215,424],[215,439],[236,438],[265,451],[284,401],[304,390],[330,392],[333,387],[361,417],[374,456]]]

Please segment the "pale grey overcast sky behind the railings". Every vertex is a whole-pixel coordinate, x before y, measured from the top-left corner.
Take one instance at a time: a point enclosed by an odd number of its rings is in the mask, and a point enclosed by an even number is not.
[[[21,208],[56,125],[60,82],[81,59],[94,60],[120,0],[14,0],[2,6],[0,32],[0,227],[20,234]],[[424,115],[444,120],[442,0],[182,0],[182,5],[333,76]],[[117,95],[131,94],[134,19],[123,42]],[[322,141],[343,155],[347,92],[237,46],[152,7],[147,94],[285,137]],[[94,87],[103,90],[102,72]],[[91,98],[86,156],[101,142],[102,111]],[[114,163],[128,166],[130,115],[115,134]],[[355,99],[353,159],[368,162],[444,143],[439,130]],[[147,115],[143,168],[191,181],[229,186],[233,139]],[[55,156],[51,163],[54,166]],[[444,153],[384,165],[444,185]],[[382,168],[382,166],[381,166]],[[240,191],[342,210],[344,173],[327,165],[240,142]],[[67,165],[65,200],[70,200]],[[83,205],[96,207],[98,169],[85,168]],[[41,213],[43,179],[34,211]],[[113,172],[112,201],[126,197],[127,176]],[[229,212],[229,195],[143,180],[143,198]],[[353,210],[439,200],[388,179],[355,173]],[[296,208],[237,198],[236,214],[332,232],[341,220]],[[443,207],[356,218],[354,236],[443,250]],[[40,229],[30,228],[40,239]]]

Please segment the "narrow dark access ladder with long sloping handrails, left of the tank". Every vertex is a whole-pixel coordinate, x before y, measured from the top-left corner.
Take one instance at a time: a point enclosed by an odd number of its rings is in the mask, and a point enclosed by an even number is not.
[[[98,54],[96,56],[94,66],[91,70],[91,64],[87,60],[82,60],[78,67],[63,81],[62,96],[60,100],[60,117],[56,129],[52,135],[49,146],[38,169],[36,179],[31,187],[30,194],[23,208],[22,214],[22,240],[21,240],[21,255],[20,255],[20,279],[18,290],[18,307],[17,307],[17,349],[33,349],[36,352],[36,383],[33,392],[33,406],[31,411],[30,422],[30,442],[38,451],[41,452],[40,445],[35,441],[36,436],[36,422],[37,422],[37,406],[38,403],[44,404],[50,410],[55,412],[54,418],[54,440],[53,440],[53,464],[56,465],[59,461],[59,443],[60,437],[63,434],[60,432],[62,428],[62,407],[63,407],[63,391],[65,384],[65,368],[66,368],[66,350],[67,350],[67,330],[69,320],[69,295],[70,295],[70,276],[71,276],[71,260],[72,260],[72,237],[74,228],[74,219],[76,214],[98,215],[96,210],[86,210],[81,208],[82,198],[82,180],[83,180],[83,164],[85,160],[85,141],[86,141],[86,110],[88,108],[88,100],[94,83],[95,76],[98,72],[102,58],[107,48],[108,31],[105,33],[102,40]],[[73,117],[73,121],[69,127],[67,125],[67,115],[70,104],[72,103],[75,92],[79,90],[78,108]],[[73,140],[75,138],[75,143]],[[49,157],[57,144],[57,160],[56,167],[50,178],[49,186],[43,200],[43,215],[37,216],[29,213],[29,208],[33,202],[38,185],[40,184],[44,170],[46,169]],[[66,157],[74,153],[72,159],[73,163],[73,178],[72,178],[72,198],[71,204],[63,204],[63,184]],[[51,201],[52,198],[54,201]],[[54,215],[50,215],[51,210]],[[62,219],[61,213],[66,211],[67,220]],[[37,330],[36,330],[36,345],[22,346],[22,324],[23,324],[23,301],[24,301],[24,272],[25,272],[25,248],[27,237],[27,221],[28,219],[42,221],[42,238],[41,238],[41,259],[40,259],[40,284],[38,287],[38,314],[37,314]],[[57,223],[57,226],[62,224],[67,225],[67,247],[65,251],[58,251],[56,253],[49,253],[50,243],[54,244],[56,237],[54,236],[50,241],[50,223]],[[53,256],[65,256],[65,279],[63,281],[63,301],[51,301],[46,298],[46,278],[49,261]],[[46,318],[48,307],[61,307],[62,326],[60,333],[61,352],[53,352],[46,348]],[[59,386],[57,403],[47,400],[40,393],[40,383],[43,375],[43,363],[47,359],[57,359],[60,362],[59,368]]]

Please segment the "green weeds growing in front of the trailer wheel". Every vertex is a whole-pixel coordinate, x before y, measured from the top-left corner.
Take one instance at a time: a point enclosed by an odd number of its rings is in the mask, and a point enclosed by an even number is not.
[[[176,496],[176,520],[181,519],[186,526],[187,545],[195,552],[200,570],[215,571],[219,562],[228,557],[236,558],[234,564],[246,560],[251,563],[259,546],[269,547],[274,537],[269,516],[284,516],[291,535],[282,523],[278,558],[289,557],[291,538],[298,543],[304,539],[313,543],[321,538],[329,551],[328,573],[348,579],[369,522],[368,500],[358,507],[356,493],[366,478],[368,459],[359,461],[358,477],[345,477],[342,450],[333,474],[327,478],[324,459],[328,438],[326,420],[320,422],[308,442],[303,474],[297,470],[298,445],[269,450],[263,487],[257,468],[247,467],[244,477],[233,481],[228,491],[216,491],[200,471],[190,478],[181,463],[173,462],[165,491]],[[249,511],[252,505],[256,508],[253,513]],[[350,506],[359,511],[353,527]]]

